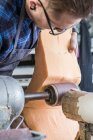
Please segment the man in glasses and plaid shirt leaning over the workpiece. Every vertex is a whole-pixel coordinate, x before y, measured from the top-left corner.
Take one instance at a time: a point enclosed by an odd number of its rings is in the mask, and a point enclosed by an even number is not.
[[[41,29],[58,35],[92,9],[93,0],[0,0],[0,74],[12,75],[35,46]],[[71,50],[75,37],[76,33],[72,33]]]

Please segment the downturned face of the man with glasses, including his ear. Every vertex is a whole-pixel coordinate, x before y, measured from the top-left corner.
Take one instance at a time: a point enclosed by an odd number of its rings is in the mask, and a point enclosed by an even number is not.
[[[36,2],[37,1],[37,2]],[[32,3],[31,3],[32,2]],[[35,4],[36,9],[31,10],[31,4]],[[53,10],[47,6],[48,3],[44,0],[26,0],[26,11],[29,17],[35,22],[35,24],[41,29],[50,29],[48,20],[52,26],[52,28],[56,28],[57,30],[68,29],[78,22],[81,19],[75,18],[67,13],[62,13],[60,16],[55,17]],[[46,13],[48,18],[46,16]]]

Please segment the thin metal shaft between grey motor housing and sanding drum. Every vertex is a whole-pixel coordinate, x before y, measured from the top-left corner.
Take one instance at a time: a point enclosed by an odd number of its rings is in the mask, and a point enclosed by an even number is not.
[[[48,92],[34,92],[34,93],[26,93],[25,94],[25,100],[31,101],[31,100],[45,100],[49,99],[49,93]]]

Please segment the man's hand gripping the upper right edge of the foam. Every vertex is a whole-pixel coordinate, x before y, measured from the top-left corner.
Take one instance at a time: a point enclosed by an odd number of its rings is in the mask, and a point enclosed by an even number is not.
[[[76,56],[78,57],[79,52],[78,52],[78,41],[77,41],[77,32],[73,32],[71,34],[71,41],[70,41],[70,47],[68,48],[68,51],[75,52]]]

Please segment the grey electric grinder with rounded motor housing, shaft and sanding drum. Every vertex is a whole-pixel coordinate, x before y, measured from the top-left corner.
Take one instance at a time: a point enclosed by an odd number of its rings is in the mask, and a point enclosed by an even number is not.
[[[63,93],[74,84],[54,84],[45,88],[42,93],[25,93],[18,81],[9,76],[0,76],[0,129],[7,129],[22,112],[25,100],[45,100],[47,104],[61,105]]]

